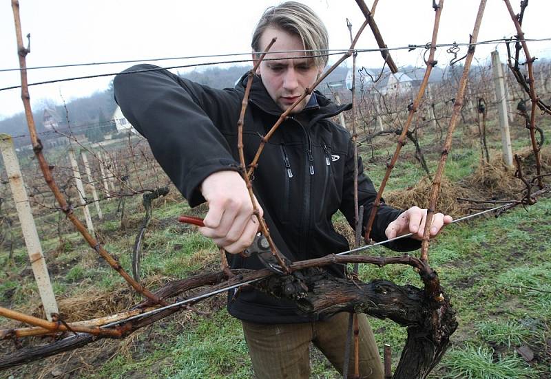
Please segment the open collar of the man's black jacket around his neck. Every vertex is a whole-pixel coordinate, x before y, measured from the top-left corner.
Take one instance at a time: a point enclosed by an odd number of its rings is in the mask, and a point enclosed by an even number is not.
[[[245,86],[249,80],[249,75],[244,74],[240,80],[236,83],[236,89],[245,91]],[[262,111],[269,113],[273,116],[280,116],[282,110],[275,104],[275,101],[270,97],[268,91],[262,84],[260,76],[253,76],[253,84],[251,85],[251,92],[249,94],[249,102],[261,109]],[[334,102],[326,98],[320,91],[313,91],[309,102],[306,107],[300,111],[300,113],[307,114],[308,118],[311,118],[310,124],[316,122],[322,118],[328,118],[336,116],[342,111],[351,109],[351,104],[336,105]]]

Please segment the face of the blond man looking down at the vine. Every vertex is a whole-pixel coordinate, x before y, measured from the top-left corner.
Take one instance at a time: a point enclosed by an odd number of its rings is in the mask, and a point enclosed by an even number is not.
[[[256,74],[262,78],[268,94],[275,103],[286,111],[297,100],[306,88],[311,88],[315,80],[322,73],[323,67],[315,65],[313,58],[295,58],[305,56],[304,52],[291,52],[289,50],[304,50],[300,37],[289,34],[283,30],[269,27],[260,36],[260,49],[264,50],[268,43],[277,37],[269,54],[265,58],[275,61],[262,61]],[[289,57],[294,59],[289,59]],[[306,96],[291,113],[297,113],[304,109],[304,105],[310,99]]]

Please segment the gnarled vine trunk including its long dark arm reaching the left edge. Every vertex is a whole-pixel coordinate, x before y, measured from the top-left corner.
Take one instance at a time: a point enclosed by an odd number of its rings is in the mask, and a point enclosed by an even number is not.
[[[319,268],[297,270],[285,276],[268,276],[267,270],[236,270],[234,273],[238,281],[264,277],[253,285],[273,296],[295,301],[304,314],[329,317],[337,312],[364,312],[377,318],[389,318],[407,327],[408,338],[393,376],[395,379],[426,378],[443,356],[449,338],[457,328],[455,311],[450,307],[446,294],[442,294],[444,301],[436,303],[431,296],[426,295],[425,290],[413,285],[400,286],[385,280],[362,283],[335,278]],[[222,272],[198,275],[168,283],[156,292],[156,296],[167,299],[203,285],[214,285],[209,288],[212,290],[224,287],[227,283],[229,282],[225,281]],[[144,301],[136,308],[149,305],[149,301]],[[121,322],[120,327],[124,329],[123,335],[127,336],[181,309],[183,308],[174,307],[147,318]],[[98,338],[105,336],[79,334],[49,345],[20,349],[0,358],[0,369],[76,349]]]

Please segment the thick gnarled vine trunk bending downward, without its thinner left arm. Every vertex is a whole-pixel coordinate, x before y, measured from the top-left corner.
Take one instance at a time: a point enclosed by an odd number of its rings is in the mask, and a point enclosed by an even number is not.
[[[400,286],[382,279],[352,282],[310,269],[286,277],[269,277],[256,286],[273,296],[292,299],[306,314],[363,312],[407,327],[408,338],[395,379],[426,378],[457,329],[455,310],[450,307],[448,296],[443,294],[444,301],[435,307],[425,291],[413,285]]]

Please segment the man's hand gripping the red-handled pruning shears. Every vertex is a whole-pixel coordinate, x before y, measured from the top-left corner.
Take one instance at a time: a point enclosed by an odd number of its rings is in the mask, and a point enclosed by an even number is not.
[[[209,212],[203,220],[205,227],[199,228],[199,232],[231,254],[251,246],[258,232],[258,220],[241,175],[236,171],[213,173],[203,180],[201,193],[209,204]],[[256,206],[262,216],[258,202]]]

